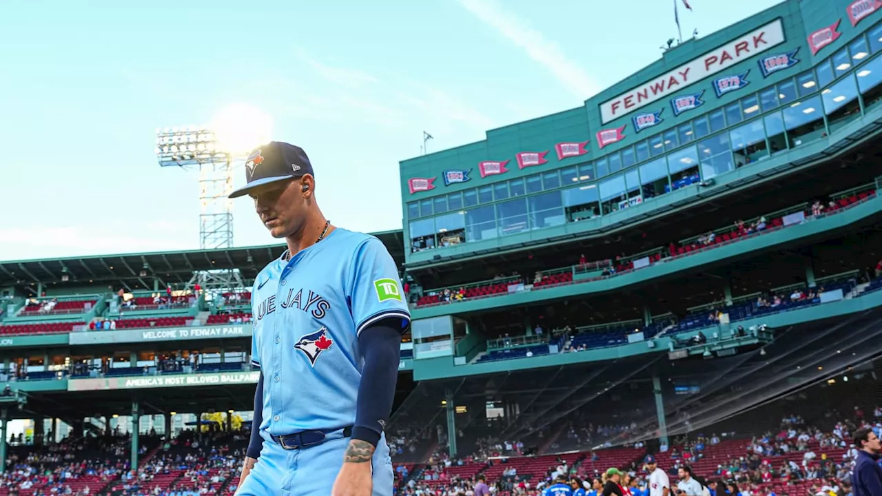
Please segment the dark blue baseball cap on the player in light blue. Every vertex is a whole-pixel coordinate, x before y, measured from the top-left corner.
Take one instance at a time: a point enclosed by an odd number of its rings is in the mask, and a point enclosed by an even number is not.
[[[310,157],[301,147],[281,141],[271,141],[251,151],[245,160],[245,185],[230,193],[229,198],[238,198],[258,186],[279,183],[312,172]]]

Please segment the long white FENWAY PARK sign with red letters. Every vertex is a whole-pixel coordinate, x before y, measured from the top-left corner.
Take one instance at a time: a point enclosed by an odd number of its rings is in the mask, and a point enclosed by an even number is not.
[[[781,19],[775,19],[765,26],[760,26],[692,59],[673,71],[668,71],[658,78],[604,101],[600,106],[602,124],[642,109],[654,101],[672,98],[686,86],[744,62],[784,41],[784,26]]]

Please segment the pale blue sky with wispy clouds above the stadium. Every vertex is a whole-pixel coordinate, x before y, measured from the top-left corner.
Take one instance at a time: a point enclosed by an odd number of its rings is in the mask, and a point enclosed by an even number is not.
[[[689,2],[699,36],[775,4]],[[672,0],[4,4],[0,259],[198,248],[198,177],[154,133],[232,103],[310,154],[334,224],[398,229],[423,130],[437,151],[577,107],[675,34]],[[235,244],[268,243],[236,201]]]

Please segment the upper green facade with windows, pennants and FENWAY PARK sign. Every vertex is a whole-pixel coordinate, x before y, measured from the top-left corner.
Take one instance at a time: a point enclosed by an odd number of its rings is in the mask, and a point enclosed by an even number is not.
[[[790,0],[583,107],[403,161],[407,263],[600,232],[835,150],[879,118],[880,51],[875,2]]]

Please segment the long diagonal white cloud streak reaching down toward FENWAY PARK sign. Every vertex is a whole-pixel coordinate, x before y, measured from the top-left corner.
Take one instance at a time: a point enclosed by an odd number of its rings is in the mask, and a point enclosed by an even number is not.
[[[579,64],[564,55],[554,41],[547,40],[541,32],[506,11],[496,0],[457,0],[484,24],[497,30],[515,46],[527,52],[527,56],[544,65],[560,83],[581,100],[596,94],[599,87],[588,77]]]

